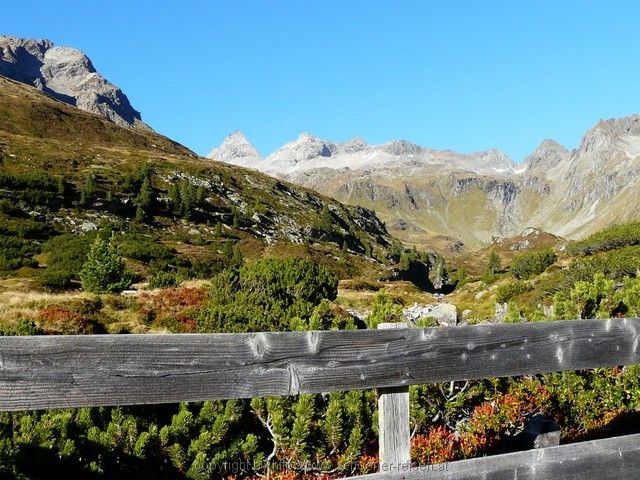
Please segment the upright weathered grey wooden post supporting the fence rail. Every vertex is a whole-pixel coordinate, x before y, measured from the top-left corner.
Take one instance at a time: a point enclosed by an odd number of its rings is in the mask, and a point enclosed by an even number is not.
[[[407,328],[405,323],[381,323],[380,329]],[[378,389],[380,472],[407,471],[411,465],[409,387]]]

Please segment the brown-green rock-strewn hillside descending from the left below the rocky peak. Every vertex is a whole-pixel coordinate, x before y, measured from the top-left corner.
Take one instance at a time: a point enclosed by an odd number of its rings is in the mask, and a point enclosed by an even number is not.
[[[0,207],[0,235],[19,237],[29,218],[40,225],[35,244],[25,239],[36,251],[38,241],[102,225],[146,236],[192,265],[204,262],[205,275],[229,260],[227,243],[249,258],[274,249],[312,257],[346,277],[384,268],[377,259],[385,261],[391,241],[371,211],[212,163],[154,132],[119,127],[4,77]],[[157,268],[138,266],[143,276]]]

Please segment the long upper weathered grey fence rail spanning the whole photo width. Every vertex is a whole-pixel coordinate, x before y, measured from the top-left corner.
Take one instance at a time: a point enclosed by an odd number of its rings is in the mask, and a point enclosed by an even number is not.
[[[0,337],[0,410],[399,387],[640,363],[640,319]]]

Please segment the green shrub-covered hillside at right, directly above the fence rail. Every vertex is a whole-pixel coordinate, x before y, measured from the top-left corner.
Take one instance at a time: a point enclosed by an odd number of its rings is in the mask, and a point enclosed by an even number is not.
[[[506,305],[499,305],[498,316],[508,321],[635,315],[639,238],[637,222],[614,225],[574,242],[531,231],[455,259],[452,276],[459,284],[448,299],[472,323],[495,321],[496,304]],[[544,252],[554,257],[537,271],[533,257]],[[497,272],[490,271],[491,254],[499,258]],[[533,273],[526,269],[530,265]]]

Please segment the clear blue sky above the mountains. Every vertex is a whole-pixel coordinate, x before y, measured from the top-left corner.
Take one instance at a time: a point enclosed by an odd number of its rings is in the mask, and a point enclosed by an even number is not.
[[[89,55],[142,118],[200,154],[240,129],[407,139],[519,161],[640,112],[640,2],[2,2],[0,32]]]

